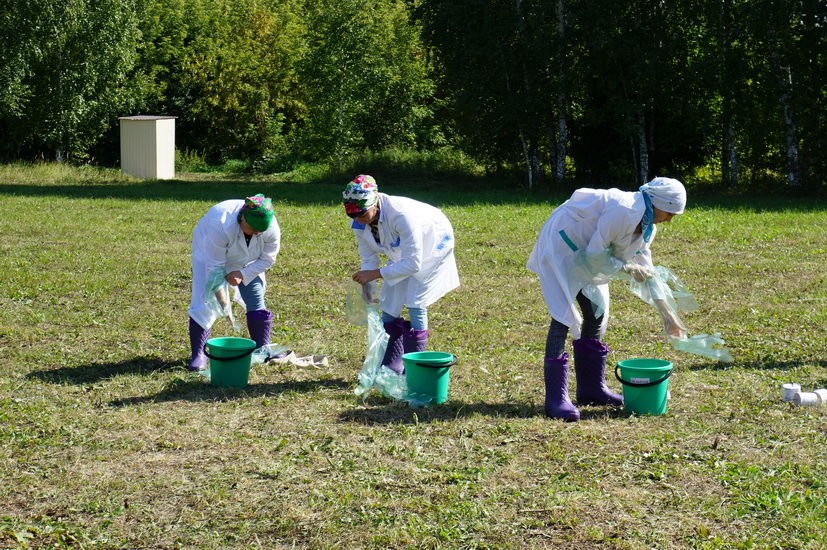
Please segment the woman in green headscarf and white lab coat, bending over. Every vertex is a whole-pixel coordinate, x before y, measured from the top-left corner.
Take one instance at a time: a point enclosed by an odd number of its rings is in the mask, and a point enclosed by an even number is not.
[[[218,275],[236,287],[247,310],[247,329],[256,347],[270,343],[273,314],[264,303],[264,272],[276,261],[281,231],[273,201],[262,194],[227,200],[210,208],[192,234],[192,299],[189,335],[192,355],[187,368],[204,370],[204,344],[218,318],[210,307],[207,286]],[[229,297],[227,297],[229,299]]]

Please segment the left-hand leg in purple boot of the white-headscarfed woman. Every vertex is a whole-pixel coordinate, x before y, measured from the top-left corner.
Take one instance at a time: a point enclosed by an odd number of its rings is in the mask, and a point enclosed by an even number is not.
[[[552,320],[546,336],[543,378],[546,385],[545,413],[567,422],[580,419],[580,412],[569,399],[569,355],[564,352],[568,327]]]

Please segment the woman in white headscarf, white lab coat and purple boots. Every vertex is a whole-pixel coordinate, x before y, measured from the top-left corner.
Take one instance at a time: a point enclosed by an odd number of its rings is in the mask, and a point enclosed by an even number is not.
[[[671,221],[685,206],[686,190],[681,182],[654,178],[637,192],[578,189],[546,221],[528,259],[528,269],[539,275],[552,317],[544,361],[547,416],[580,419],[568,394],[569,356],[564,349],[569,331],[575,338],[577,403],[623,403],[620,395],[609,391],[605,380],[609,352],[601,341],[609,313],[605,275],[623,270],[638,281],[651,277],[649,247],[657,233],[656,224]],[[584,288],[594,291],[592,299],[584,294]],[[595,314],[598,311],[599,316]],[[670,335],[683,335],[685,329],[679,320],[665,317],[664,322]]]

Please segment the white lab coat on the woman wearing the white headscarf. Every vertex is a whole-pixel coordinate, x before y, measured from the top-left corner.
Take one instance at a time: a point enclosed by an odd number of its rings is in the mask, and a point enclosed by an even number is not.
[[[611,247],[612,255],[625,263],[652,266],[649,245],[655,238],[653,227],[649,243],[642,234],[635,234],[643,218],[645,205],[640,192],[619,189],[578,189],[571,198],[557,207],[549,216],[537,243],[528,258],[528,269],[539,275],[548,312],[563,323],[575,338],[580,337],[583,317],[575,297],[591,281],[573,275],[575,251],[560,234],[565,232],[578,251],[597,254]],[[609,318],[609,285],[603,282],[597,289],[604,298]]]

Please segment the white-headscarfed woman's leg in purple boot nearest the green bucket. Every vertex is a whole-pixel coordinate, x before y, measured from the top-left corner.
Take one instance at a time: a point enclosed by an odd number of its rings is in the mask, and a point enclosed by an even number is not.
[[[574,347],[574,373],[577,378],[578,405],[622,405],[623,398],[606,386],[606,357],[609,354],[603,337],[603,317],[595,317],[591,300],[583,293],[577,295],[583,312],[580,338]]]

